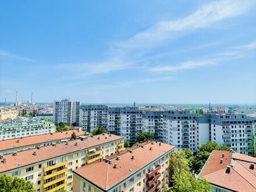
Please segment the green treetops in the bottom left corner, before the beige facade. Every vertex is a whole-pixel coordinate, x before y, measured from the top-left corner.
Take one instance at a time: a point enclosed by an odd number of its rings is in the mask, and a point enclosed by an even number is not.
[[[26,182],[23,178],[0,176],[0,192],[35,192],[33,183]]]

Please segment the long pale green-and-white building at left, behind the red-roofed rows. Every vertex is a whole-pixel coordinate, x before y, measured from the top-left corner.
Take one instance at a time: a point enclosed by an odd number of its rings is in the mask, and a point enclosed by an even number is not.
[[[10,121],[0,123],[0,141],[54,133],[54,123],[45,120]]]

